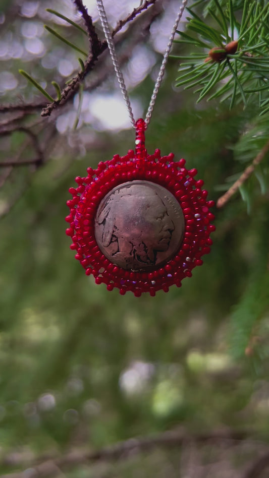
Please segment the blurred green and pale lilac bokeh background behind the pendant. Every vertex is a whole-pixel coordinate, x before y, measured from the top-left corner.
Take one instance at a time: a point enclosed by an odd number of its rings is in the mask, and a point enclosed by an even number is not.
[[[139,6],[106,4],[112,26]],[[135,116],[147,109],[178,8],[157,4],[150,28],[148,11],[118,35]],[[85,5],[97,21],[94,2]],[[18,70],[55,96],[51,81],[64,87],[81,56],[43,25],[88,49],[46,8],[83,27],[71,0],[0,2],[1,476],[41,476],[35,464],[47,458],[146,437],[151,445],[115,459],[63,458],[49,475],[264,478],[268,468],[244,473],[269,439],[268,156],[241,195],[213,211],[211,253],[180,289],[136,298],[95,285],[69,249],[68,188],[88,166],[126,154],[134,132],[107,52],[74,98],[40,117],[46,100]],[[217,200],[265,144],[268,115],[257,120],[254,102],[197,105],[175,87],[178,67],[171,59],[146,147],[184,157]]]

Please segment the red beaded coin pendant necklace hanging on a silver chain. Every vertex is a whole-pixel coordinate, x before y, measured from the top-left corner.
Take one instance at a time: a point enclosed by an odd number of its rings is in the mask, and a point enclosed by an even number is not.
[[[105,283],[121,294],[130,290],[155,295],[159,289],[181,286],[184,277],[202,264],[210,252],[210,233],[215,229],[203,181],[195,180],[196,169],[186,169],[185,160],[173,161],[174,154],[151,155],[145,149],[147,129],[162,82],[178,23],[187,0],[183,0],[172,28],[163,62],[153,89],[145,120],[135,121],[124,78],[102,0],[96,0],[102,28],[133,128],[135,151],[100,162],[88,175],[77,176],[70,188],[66,217],[72,237],[70,248],[96,284]]]

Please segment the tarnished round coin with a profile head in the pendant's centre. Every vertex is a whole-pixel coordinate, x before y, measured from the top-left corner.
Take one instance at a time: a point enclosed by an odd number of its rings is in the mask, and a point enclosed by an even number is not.
[[[112,189],[95,216],[95,238],[102,253],[133,271],[155,269],[174,257],[184,228],[177,199],[149,181],[130,181]]]

